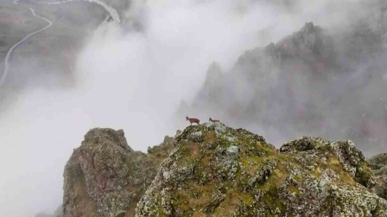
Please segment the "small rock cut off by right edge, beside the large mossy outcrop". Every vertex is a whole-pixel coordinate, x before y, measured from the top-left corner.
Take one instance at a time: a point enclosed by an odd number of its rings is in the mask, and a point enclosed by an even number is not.
[[[368,159],[368,162],[376,180],[375,193],[379,197],[387,199],[387,153],[373,156]]]

